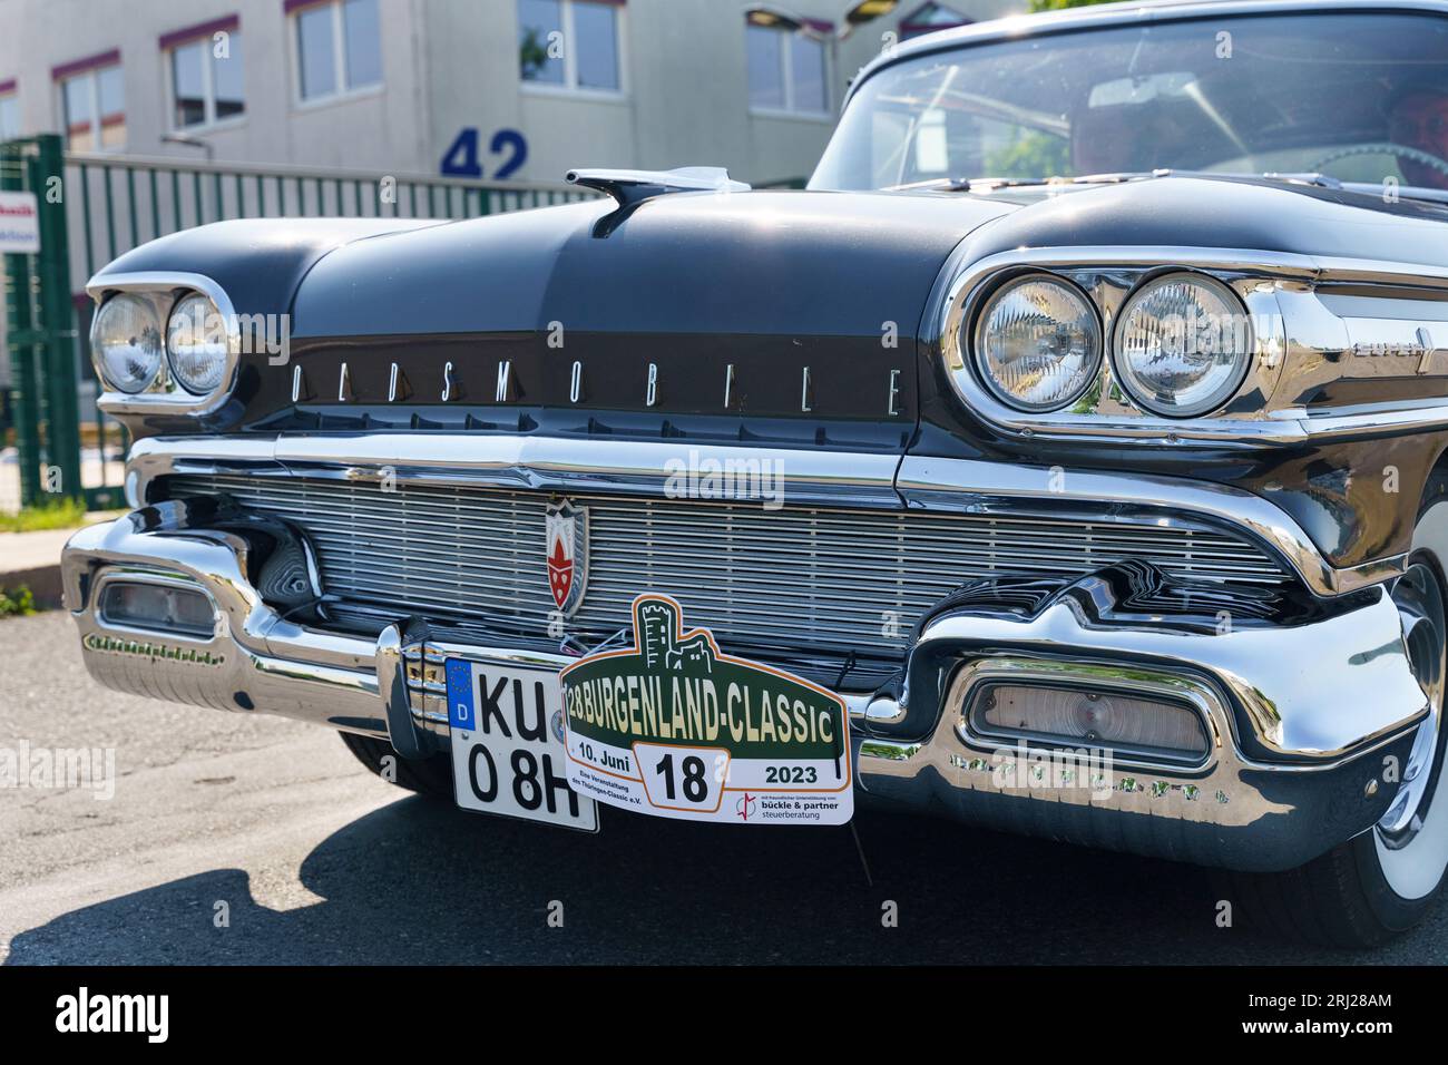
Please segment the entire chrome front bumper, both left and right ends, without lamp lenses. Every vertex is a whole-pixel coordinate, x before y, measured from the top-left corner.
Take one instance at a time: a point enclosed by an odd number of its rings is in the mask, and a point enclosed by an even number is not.
[[[449,642],[400,619],[378,638],[307,627],[262,600],[245,535],[195,527],[161,504],[77,533],[64,555],[67,606],[87,669],[155,698],[265,711],[391,739],[405,756],[445,749],[440,664],[449,653],[568,658]],[[207,639],[109,623],[97,594],[117,577],[181,581],[216,607]],[[1222,865],[1299,865],[1371,827],[1396,791],[1426,713],[1397,611],[1381,585],[1323,600],[1295,625],[1186,632],[1122,620],[1109,582],[1085,578],[1035,614],[947,609],[917,635],[898,697],[850,697],[862,800],[1093,846]],[[1116,758],[1093,774],[1044,780],[1038,751],[1012,753],[964,719],[982,668],[1064,682],[1177,690],[1208,722],[1196,765]]]

